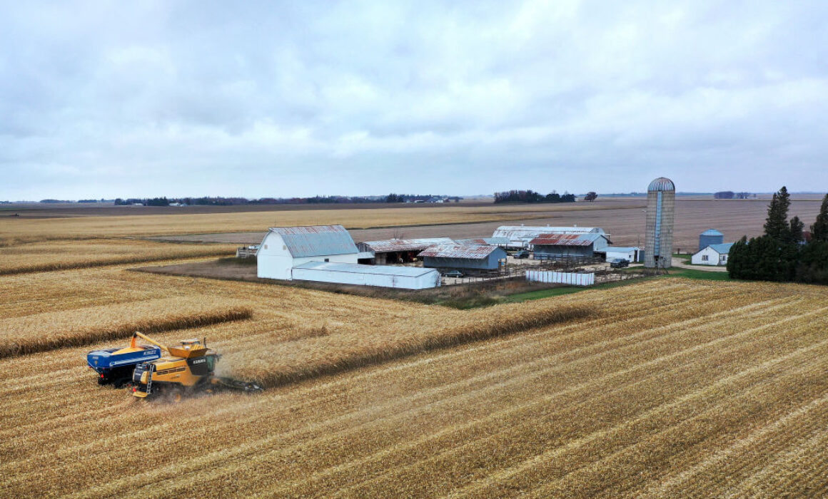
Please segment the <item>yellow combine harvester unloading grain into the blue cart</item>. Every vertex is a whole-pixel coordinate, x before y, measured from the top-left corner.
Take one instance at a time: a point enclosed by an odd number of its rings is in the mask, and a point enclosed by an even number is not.
[[[177,347],[167,347],[142,333],[132,335],[132,348],[136,339],[161,348],[166,355],[152,362],[137,364],[132,372],[132,395],[148,397],[168,395],[173,400],[196,391],[262,391],[262,387],[248,381],[237,381],[229,377],[214,375],[218,353],[207,348],[207,340],[185,339]]]

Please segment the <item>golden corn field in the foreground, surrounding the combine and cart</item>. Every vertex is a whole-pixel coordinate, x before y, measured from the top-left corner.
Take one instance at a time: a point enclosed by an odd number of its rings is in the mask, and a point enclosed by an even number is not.
[[[828,494],[824,288],[659,279],[461,311],[128,267],[0,278],[2,341],[79,342],[0,358],[0,497]],[[176,316],[191,329],[156,338],[206,336],[270,389],[147,404],[94,382],[85,353],[126,340],[84,334]]]

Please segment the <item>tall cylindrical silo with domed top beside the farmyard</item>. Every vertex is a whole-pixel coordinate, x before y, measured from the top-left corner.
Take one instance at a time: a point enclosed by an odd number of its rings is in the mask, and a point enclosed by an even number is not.
[[[673,222],[676,214],[676,185],[658,177],[647,186],[647,230],[644,266],[672,266]]]

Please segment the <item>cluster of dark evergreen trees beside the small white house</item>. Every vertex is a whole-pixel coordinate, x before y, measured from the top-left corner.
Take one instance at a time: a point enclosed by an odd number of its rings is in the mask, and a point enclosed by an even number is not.
[[[828,194],[810,233],[799,217],[787,218],[790,194],[782,187],[768,204],[764,233],[730,247],[727,270],[735,279],[828,284]]]

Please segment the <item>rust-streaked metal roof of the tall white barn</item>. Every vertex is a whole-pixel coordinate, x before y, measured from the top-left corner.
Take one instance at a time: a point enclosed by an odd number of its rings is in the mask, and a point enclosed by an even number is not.
[[[341,225],[306,225],[272,227],[270,232],[282,236],[293,257],[321,257],[358,253],[354,239]]]

